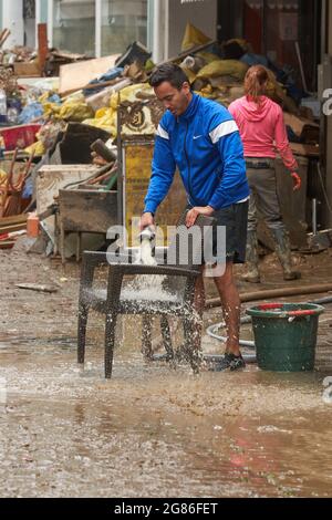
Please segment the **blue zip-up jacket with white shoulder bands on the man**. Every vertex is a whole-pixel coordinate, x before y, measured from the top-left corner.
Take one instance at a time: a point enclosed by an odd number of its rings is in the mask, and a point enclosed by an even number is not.
[[[183,115],[167,111],[160,121],[144,212],[155,214],[163,202],[176,166],[191,206],[217,210],[249,197],[237,124],[224,106],[197,94]]]

